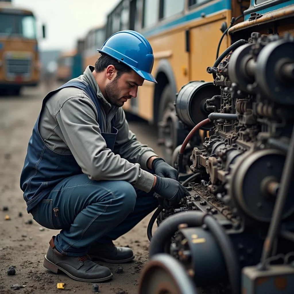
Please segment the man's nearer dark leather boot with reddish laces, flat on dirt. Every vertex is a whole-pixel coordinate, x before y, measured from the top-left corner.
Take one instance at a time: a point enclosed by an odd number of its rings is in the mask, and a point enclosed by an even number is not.
[[[61,270],[72,279],[82,282],[101,282],[111,279],[110,269],[94,263],[89,255],[73,257],[59,253],[55,248],[54,238],[55,236],[50,240],[49,249],[44,257],[45,268],[54,273]]]

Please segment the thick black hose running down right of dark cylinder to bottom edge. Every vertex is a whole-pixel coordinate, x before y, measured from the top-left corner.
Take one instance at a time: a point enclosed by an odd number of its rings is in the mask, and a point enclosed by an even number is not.
[[[211,215],[204,217],[203,223],[207,225],[209,231],[216,239],[220,250],[223,253],[225,264],[228,271],[229,281],[232,294],[240,294],[240,267],[238,256],[229,236],[225,233],[224,228]]]

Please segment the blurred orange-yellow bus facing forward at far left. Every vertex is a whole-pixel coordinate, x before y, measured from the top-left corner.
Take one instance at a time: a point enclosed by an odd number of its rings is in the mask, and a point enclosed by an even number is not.
[[[0,1],[0,95],[18,95],[22,86],[36,86],[40,67],[32,11]]]

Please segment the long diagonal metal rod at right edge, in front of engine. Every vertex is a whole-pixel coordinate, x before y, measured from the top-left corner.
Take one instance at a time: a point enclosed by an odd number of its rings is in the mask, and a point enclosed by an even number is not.
[[[280,222],[282,218],[283,209],[285,206],[285,201],[288,197],[288,191],[290,185],[292,185],[292,177],[294,171],[294,127],[292,130],[291,140],[289,144],[289,150],[285,158],[285,165],[283,168],[283,173],[280,182],[280,189],[278,191],[278,196],[275,201],[275,207],[273,211],[273,217],[270,222],[270,227],[268,229],[268,235],[263,243],[263,252],[261,255],[261,262],[264,263],[269,257],[273,242],[278,234],[278,229],[280,227]]]

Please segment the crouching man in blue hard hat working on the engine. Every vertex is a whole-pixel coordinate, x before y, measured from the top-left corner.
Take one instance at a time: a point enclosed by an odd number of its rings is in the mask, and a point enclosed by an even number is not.
[[[112,240],[156,208],[154,192],[167,206],[189,195],[177,171],[136,140],[121,108],[145,79],[156,82],[149,42],[121,31],[99,52],[95,68],[44,98],[20,179],[34,220],[61,230],[49,242],[44,266],[87,282],[112,277],[93,259],[134,258]]]

